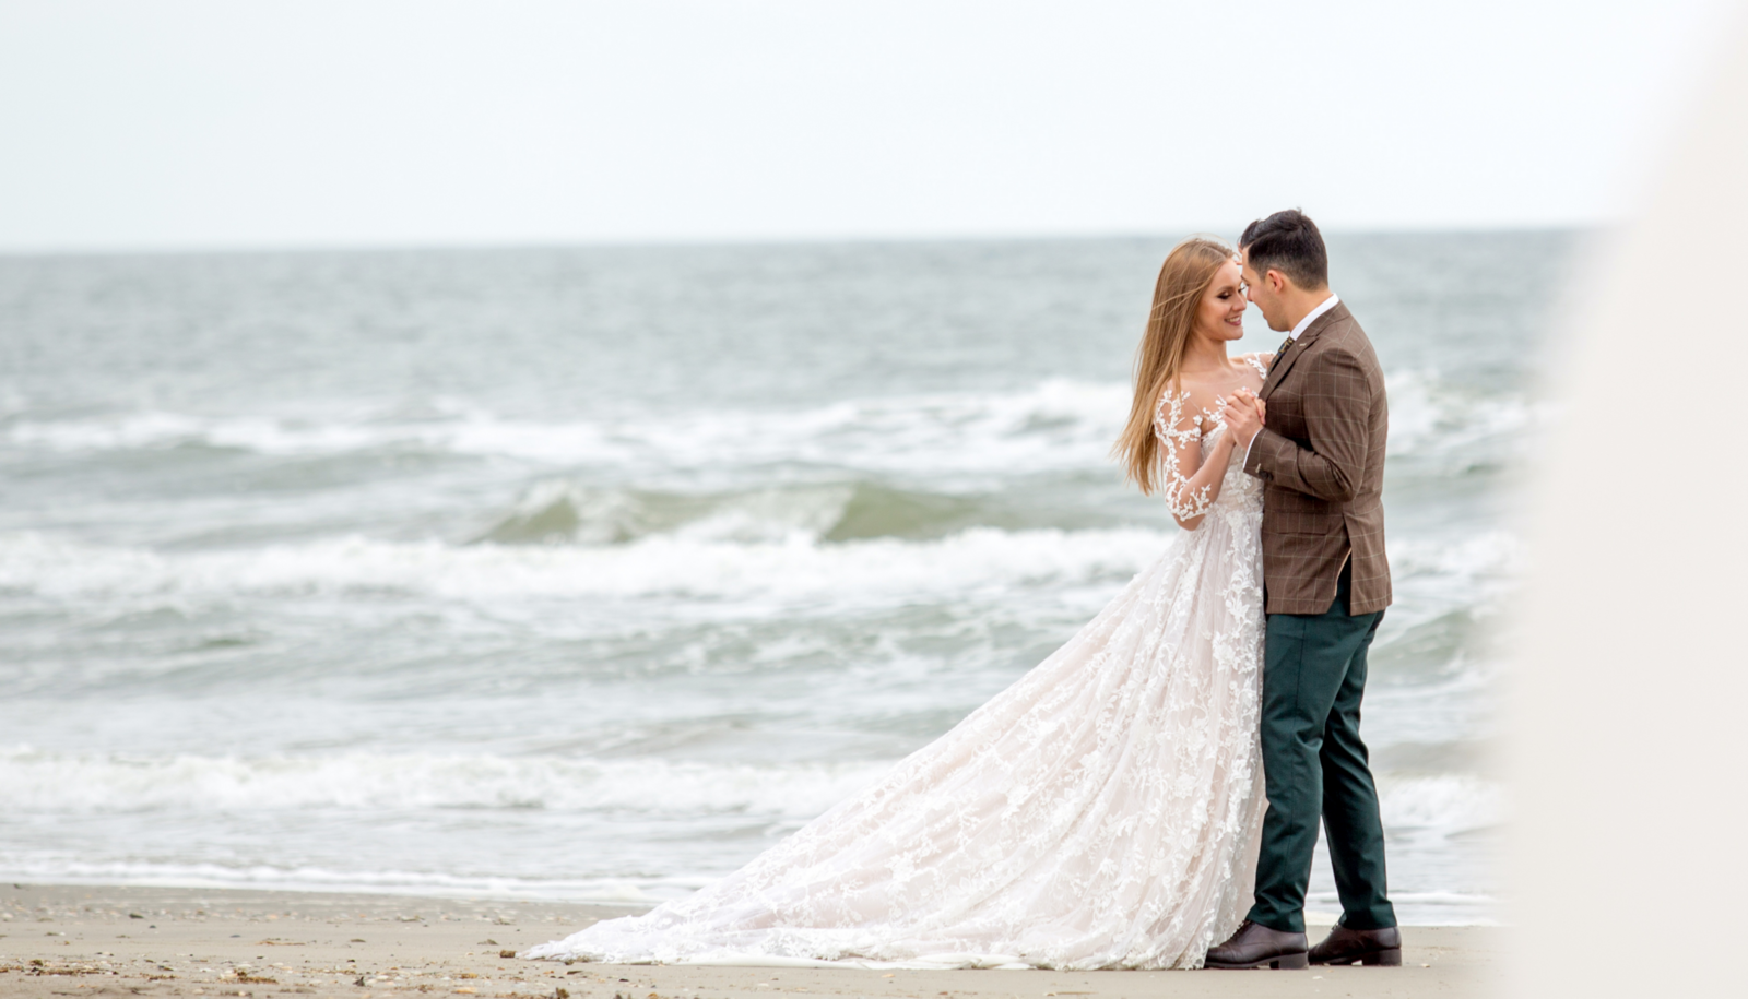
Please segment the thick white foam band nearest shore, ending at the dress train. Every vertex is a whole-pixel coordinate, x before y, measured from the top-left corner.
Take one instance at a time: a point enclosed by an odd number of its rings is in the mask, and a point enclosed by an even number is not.
[[[434,753],[145,756],[16,748],[0,751],[0,800],[14,812],[49,814],[542,809],[794,821],[822,814],[886,767]]]

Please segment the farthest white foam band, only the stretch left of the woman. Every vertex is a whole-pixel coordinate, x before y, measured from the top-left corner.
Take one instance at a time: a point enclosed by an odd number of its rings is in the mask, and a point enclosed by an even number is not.
[[[414,447],[547,465],[729,466],[818,461],[858,468],[1049,470],[1103,466],[1127,412],[1127,388],[1049,379],[1012,393],[850,400],[801,410],[706,410],[596,421],[528,421],[470,405],[434,419],[131,412],[19,419],[17,447],[86,452],[208,445],[274,456]]]

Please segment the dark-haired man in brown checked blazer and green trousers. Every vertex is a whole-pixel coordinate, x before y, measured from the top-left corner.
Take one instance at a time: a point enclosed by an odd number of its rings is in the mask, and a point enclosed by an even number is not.
[[[1365,650],[1390,604],[1384,561],[1384,372],[1328,290],[1323,236],[1301,211],[1252,222],[1243,238],[1248,297],[1285,332],[1262,382],[1225,424],[1262,479],[1262,821],[1248,919],[1208,952],[1208,968],[1400,964],[1384,894],[1384,830],[1360,741]],[[1341,922],[1306,950],[1304,899],[1318,816],[1341,892]]]

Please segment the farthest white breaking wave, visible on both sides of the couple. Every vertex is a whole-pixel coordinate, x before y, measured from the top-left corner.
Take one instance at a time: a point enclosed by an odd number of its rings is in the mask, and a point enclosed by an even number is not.
[[[1477,391],[1435,370],[1400,370],[1390,389],[1393,458],[1437,456],[1521,437],[1549,409],[1516,393]],[[843,400],[801,409],[624,412],[589,419],[510,417],[437,400],[404,409],[199,416],[133,410],[0,421],[16,449],[93,454],[206,447],[280,458],[432,452],[547,466],[746,468],[778,463],[900,473],[1012,473],[1108,468],[1129,386],[1045,379],[1016,391]]]

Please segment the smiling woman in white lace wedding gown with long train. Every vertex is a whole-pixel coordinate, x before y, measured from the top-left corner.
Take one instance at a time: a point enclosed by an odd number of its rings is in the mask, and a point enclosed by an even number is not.
[[[1229,246],[1171,250],[1115,451],[1185,531],[1075,637],[741,870],[523,957],[1199,968],[1266,809],[1262,491],[1220,417],[1267,372],[1227,356],[1243,313]]]

